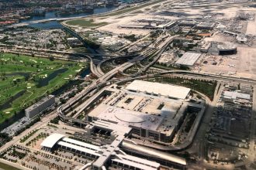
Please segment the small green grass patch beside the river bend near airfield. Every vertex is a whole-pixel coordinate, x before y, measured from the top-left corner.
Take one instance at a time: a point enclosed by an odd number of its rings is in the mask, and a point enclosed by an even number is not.
[[[94,28],[94,27],[98,27],[98,26],[105,26],[108,23],[107,22],[95,23],[93,21],[93,19],[74,19],[74,20],[66,22],[66,24],[69,26],[81,26],[84,28]]]

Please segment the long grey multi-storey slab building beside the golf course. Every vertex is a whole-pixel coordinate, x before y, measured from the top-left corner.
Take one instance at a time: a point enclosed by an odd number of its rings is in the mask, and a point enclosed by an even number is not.
[[[40,114],[43,110],[46,110],[48,107],[51,107],[55,104],[55,97],[54,95],[49,95],[44,97],[42,100],[33,104],[31,107],[26,108],[25,114],[26,117],[32,118],[37,114]]]

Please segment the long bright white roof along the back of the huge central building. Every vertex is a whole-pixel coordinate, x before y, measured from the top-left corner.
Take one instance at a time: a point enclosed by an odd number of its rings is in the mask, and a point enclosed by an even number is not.
[[[126,87],[126,90],[161,94],[162,96],[168,96],[178,99],[185,99],[190,91],[190,89],[186,87],[178,87],[170,84],[153,83],[142,80],[134,80]]]

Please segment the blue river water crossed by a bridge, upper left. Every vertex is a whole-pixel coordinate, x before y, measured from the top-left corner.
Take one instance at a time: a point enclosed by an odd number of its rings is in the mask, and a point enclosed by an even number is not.
[[[112,7],[106,7],[106,8],[95,8],[94,12],[92,12],[92,13],[85,12],[85,13],[64,15],[64,16],[57,16],[57,15],[55,15],[56,12],[47,12],[45,16],[33,16],[32,19],[23,20],[22,22],[31,22],[31,21],[37,21],[37,20],[42,20],[42,19],[58,19],[58,18],[70,18],[70,17],[78,17],[78,16],[95,15],[95,14],[101,14],[104,12],[110,12],[115,8],[117,8],[117,7],[112,6]],[[59,29],[59,28],[63,27],[57,21],[30,24],[29,26],[34,27],[34,28],[39,28],[39,29]]]

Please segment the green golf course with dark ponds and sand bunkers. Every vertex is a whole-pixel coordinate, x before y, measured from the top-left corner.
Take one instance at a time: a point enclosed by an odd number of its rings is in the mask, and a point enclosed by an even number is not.
[[[85,63],[0,54],[0,123],[77,75]]]

